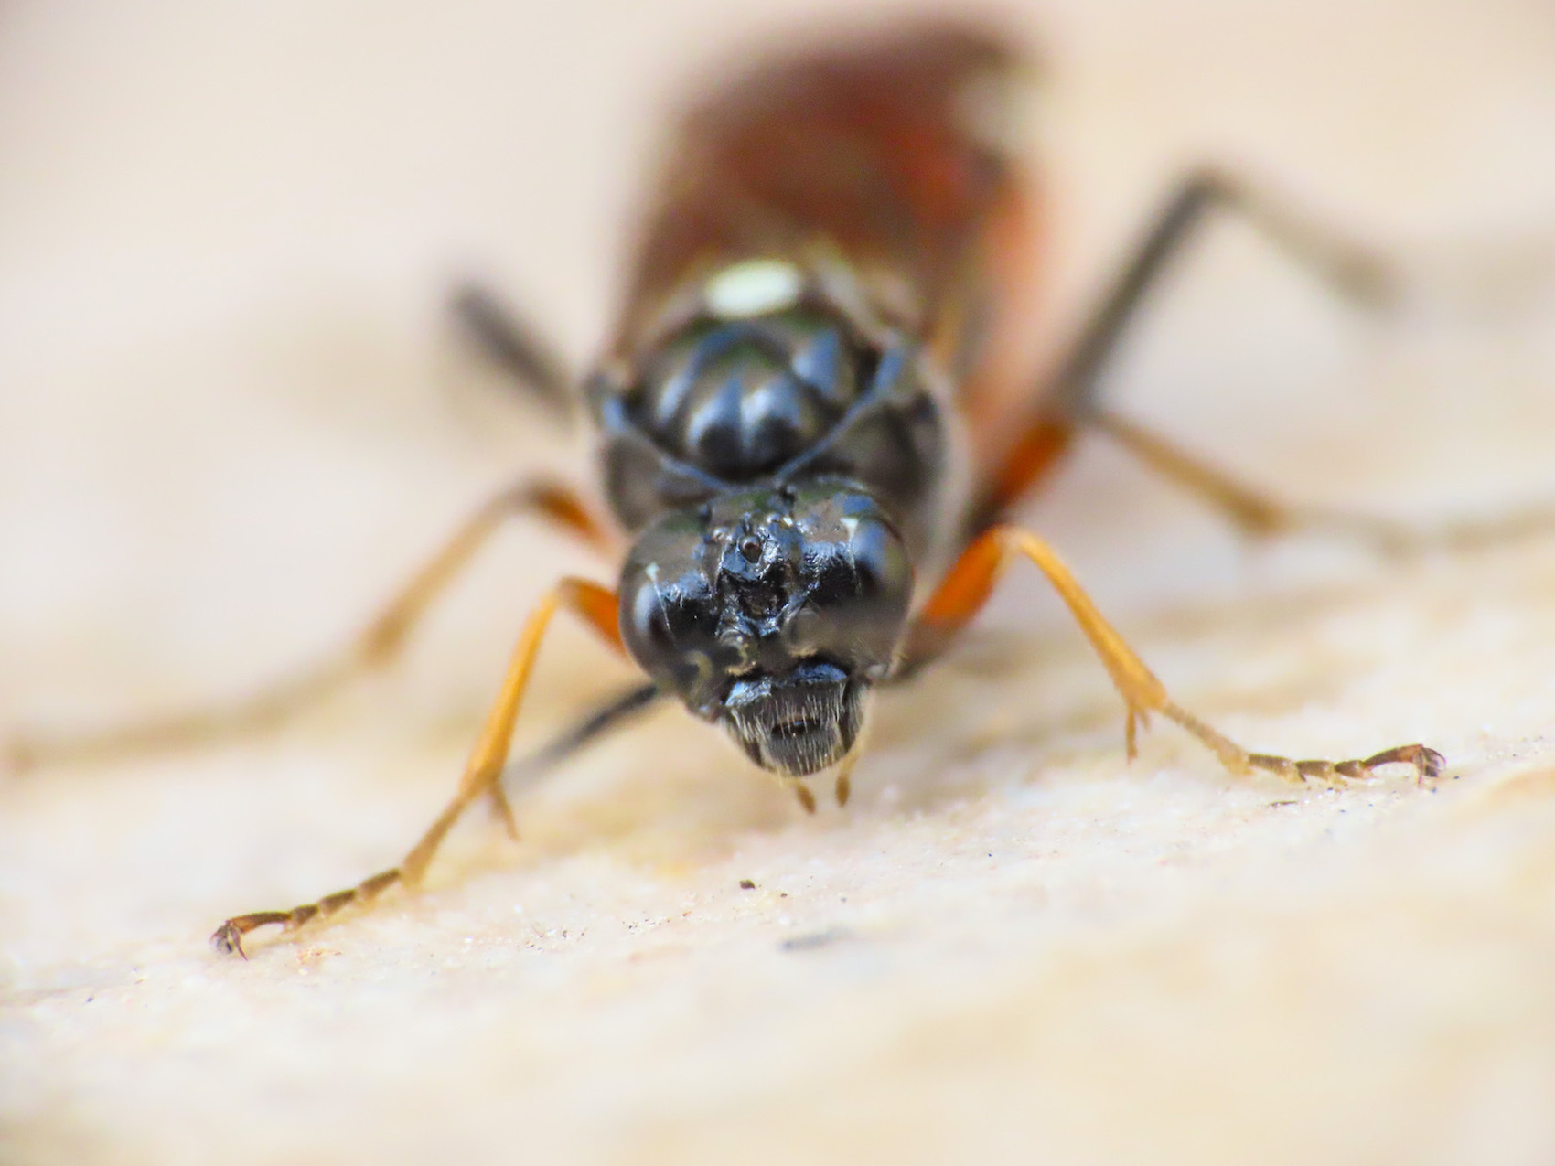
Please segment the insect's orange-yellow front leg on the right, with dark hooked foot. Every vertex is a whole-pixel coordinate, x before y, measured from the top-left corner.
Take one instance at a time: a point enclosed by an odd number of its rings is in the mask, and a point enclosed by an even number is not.
[[[1345,762],[1298,762],[1289,757],[1249,752],[1172,701],[1166,687],[1144,665],[1144,661],[1107,623],[1053,547],[1019,527],[997,525],[972,541],[924,606],[919,616],[919,628],[922,628],[919,634],[927,633],[930,639],[947,637],[970,620],[987,602],[1012,555],[1029,558],[1047,575],[1048,583],[1059,592],[1112,676],[1112,684],[1127,707],[1124,740],[1130,759],[1135,752],[1137,729],[1148,726],[1149,715],[1158,712],[1168,720],[1177,721],[1238,776],[1252,770],[1264,770],[1292,782],[1344,784],[1356,777],[1370,777],[1375,770],[1395,762],[1412,765],[1418,780],[1440,773],[1441,754],[1424,745],[1403,745],[1365,759]]]

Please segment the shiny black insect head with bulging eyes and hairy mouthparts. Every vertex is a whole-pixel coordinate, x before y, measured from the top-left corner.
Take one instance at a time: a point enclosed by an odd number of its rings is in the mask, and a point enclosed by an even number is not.
[[[847,482],[809,482],[720,496],[644,530],[622,569],[620,630],[687,709],[798,777],[852,748],[911,595],[880,505]]]

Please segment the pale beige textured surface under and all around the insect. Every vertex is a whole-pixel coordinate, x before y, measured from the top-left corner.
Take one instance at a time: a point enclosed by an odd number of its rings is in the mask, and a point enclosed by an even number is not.
[[[516,466],[575,466],[440,289],[480,271],[583,359],[662,98],[804,9],[0,9],[0,724],[285,672]],[[1054,72],[1045,344],[1171,174],[1233,160],[1410,302],[1359,319],[1216,232],[1118,398],[1295,497],[1555,496],[1543,5],[1012,12]],[[1448,776],[1244,785],[1169,728],[1126,765],[1012,574],[846,812],[666,710],[524,791],[522,846],[476,816],[425,897],[211,955],[390,861],[526,605],[608,575],[515,532],[285,734],[0,780],[0,1160],[1555,1160],[1555,539],[1244,553],[1101,446],[1031,521],[1239,740]],[[625,675],[572,634],[541,667],[526,742]]]

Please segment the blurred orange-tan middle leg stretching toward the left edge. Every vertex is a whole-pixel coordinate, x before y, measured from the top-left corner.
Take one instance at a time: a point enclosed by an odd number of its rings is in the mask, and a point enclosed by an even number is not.
[[[564,487],[541,482],[490,497],[446,544],[393,595],[342,651],[297,676],[275,682],[232,704],[82,734],[22,735],[8,743],[17,768],[56,760],[134,756],[216,742],[285,721],[348,681],[390,664],[431,603],[442,595],[502,524],[516,515],[541,515],[596,546],[605,530]]]

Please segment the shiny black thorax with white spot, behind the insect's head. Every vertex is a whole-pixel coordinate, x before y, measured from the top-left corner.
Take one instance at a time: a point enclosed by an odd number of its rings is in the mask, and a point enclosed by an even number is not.
[[[945,409],[916,345],[779,260],[734,264],[692,311],[596,373],[603,479],[628,530],[757,484],[846,479],[916,552],[933,536]]]

